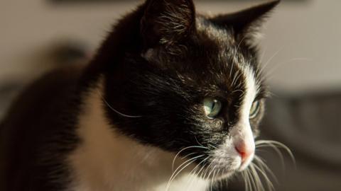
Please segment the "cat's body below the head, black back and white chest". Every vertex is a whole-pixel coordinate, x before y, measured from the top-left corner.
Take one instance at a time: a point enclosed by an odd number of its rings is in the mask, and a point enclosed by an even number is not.
[[[92,86],[80,91],[83,70],[49,73],[13,105],[13,118],[2,125],[20,128],[1,134],[9,151],[4,164],[9,190],[166,190],[175,154],[115,132],[104,116],[103,78],[91,79]],[[172,187],[180,190],[186,183],[195,190],[207,185],[183,173]]]

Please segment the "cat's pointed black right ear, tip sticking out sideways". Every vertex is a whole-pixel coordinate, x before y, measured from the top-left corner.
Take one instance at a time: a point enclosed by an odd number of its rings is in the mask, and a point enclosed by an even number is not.
[[[237,40],[251,43],[261,36],[260,30],[264,19],[279,2],[280,0],[269,1],[236,13],[216,16],[211,21],[217,25],[232,28]]]

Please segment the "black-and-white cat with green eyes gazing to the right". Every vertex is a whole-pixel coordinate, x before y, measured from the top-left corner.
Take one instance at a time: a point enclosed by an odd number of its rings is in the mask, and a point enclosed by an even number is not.
[[[208,190],[254,158],[268,95],[261,23],[147,0],[89,64],[35,81],[1,123],[1,190]]]

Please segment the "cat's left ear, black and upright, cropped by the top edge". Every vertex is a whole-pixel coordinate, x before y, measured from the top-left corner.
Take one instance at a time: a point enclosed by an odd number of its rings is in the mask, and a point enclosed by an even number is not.
[[[141,19],[141,35],[147,48],[173,45],[195,30],[192,0],[147,0]]]

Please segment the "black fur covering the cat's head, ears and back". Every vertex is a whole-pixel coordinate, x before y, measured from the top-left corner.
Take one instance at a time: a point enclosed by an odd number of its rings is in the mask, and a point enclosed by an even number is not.
[[[80,105],[99,76],[113,108],[141,116],[122,117],[105,108],[121,133],[172,152],[222,144],[239,120],[243,64],[254,69],[263,108],[266,88],[257,52],[243,37],[277,3],[207,18],[195,14],[190,0],[146,1],[115,25],[88,66],[48,74],[18,98],[1,124],[2,190],[65,188],[70,169],[63,160],[80,144],[75,134]],[[215,120],[202,110],[207,97],[223,103]],[[254,131],[261,115],[251,121]]]

